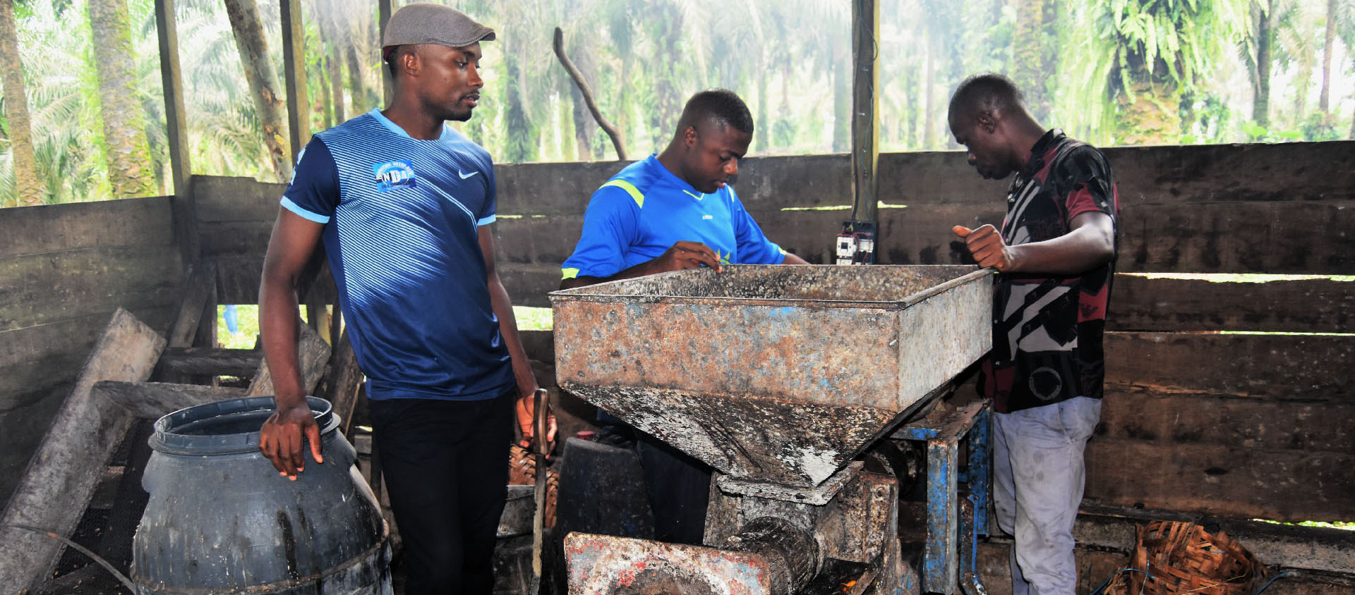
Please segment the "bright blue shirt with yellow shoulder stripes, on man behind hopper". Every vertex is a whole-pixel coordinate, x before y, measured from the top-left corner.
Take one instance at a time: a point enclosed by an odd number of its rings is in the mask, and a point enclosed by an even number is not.
[[[610,277],[657,258],[679,241],[710,246],[721,262],[779,265],[786,260],[744,211],[733,187],[703,195],[649,156],[593,192],[583,235],[561,272],[564,279]]]

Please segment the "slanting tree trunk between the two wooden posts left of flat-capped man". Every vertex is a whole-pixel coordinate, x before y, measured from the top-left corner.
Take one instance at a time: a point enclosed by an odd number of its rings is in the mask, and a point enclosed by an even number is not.
[[[268,41],[259,19],[259,4],[255,0],[225,0],[225,3],[230,31],[236,38],[236,50],[240,51],[240,65],[244,66],[245,81],[249,82],[249,96],[253,97],[255,110],[259,111],[268,161],[278,174],[278,181],[287,181],[291,177],[291,153],[287,147],[287,128],[282,122],[283,103],[276,92],[278,76],[274,74],[272,61],[268,58]]]

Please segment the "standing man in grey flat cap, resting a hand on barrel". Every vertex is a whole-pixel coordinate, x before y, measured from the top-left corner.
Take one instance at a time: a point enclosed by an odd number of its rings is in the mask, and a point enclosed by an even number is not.
[[[259,449],[283,480],[297,480],[302,438],[324,462],[297,364],[297,285],[324,242],[367,376],[408,594],[491,592],[515,411],[531,434],[537,381],[488,227],[493,164],[446,126],[470,119],[484,87],[480,42],[493,38],[443,5],[409,4],[390,16],[382,54],[394,99],[306,145],[259,287],[276,392]]]

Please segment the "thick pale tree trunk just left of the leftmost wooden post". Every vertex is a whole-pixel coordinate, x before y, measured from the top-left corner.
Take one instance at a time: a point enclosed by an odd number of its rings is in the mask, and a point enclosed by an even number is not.
[[[89,0],[93,58],[99,74],[108,185],[114,197],[146,196],[154,188],[145,112],[137,103],[131,27],[122,0]]]

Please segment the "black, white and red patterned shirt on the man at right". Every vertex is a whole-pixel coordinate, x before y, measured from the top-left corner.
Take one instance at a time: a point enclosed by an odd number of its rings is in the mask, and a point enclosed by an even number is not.
[[[1119,193],[1106,156],[1050,130],[1012,180],[1003,239],[1008,245],[1053,239],[1070,231],[1075,216],[1091,211],[1111,216],[1118,252]],[[1072,277],[997,276],[993,350],[978,383],[996,411],[1102,396],[1102,334],[1114,275],[1111,258]]]

